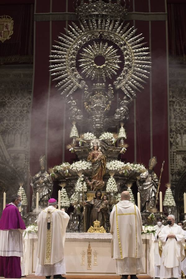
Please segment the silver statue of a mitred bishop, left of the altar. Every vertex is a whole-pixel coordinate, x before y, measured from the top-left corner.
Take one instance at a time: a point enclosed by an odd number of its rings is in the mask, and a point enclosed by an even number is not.
[[[36,206],[36,193],[39,193],[39,206],[41,208],[48,206],[48,200],[52,193],[52,179],[47,171],[45,171],[45,156],[39,158],[40,171],[31,179],[33,186],[32,210]]]

